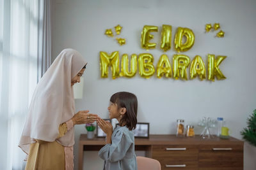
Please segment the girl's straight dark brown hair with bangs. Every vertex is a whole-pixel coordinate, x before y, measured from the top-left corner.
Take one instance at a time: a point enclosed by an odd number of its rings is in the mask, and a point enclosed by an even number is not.
[[[137,124],[137,97],[130,92],[117,92],[110,98],[111,103],[115,103],[120,108],[126,108],[124,117],[121,118],[119,124],[125,123],[126,127],[131,131],[136,128]]]

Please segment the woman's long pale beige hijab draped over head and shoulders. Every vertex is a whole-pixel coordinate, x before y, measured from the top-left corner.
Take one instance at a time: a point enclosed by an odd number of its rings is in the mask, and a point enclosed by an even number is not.
[[[71,80],[86,64],[82,55],[73,49],[63,50],[38,82],[29,106],[28,118],[19,146],[28,154],[34,139],[55,141],[59,125],[75,114]],[[63,146],[74,145],[74,128],[57,139]]]

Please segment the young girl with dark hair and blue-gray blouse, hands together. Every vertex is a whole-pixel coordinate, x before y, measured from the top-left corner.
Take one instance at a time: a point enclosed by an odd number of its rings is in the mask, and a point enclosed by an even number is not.
[[[116,118],[119,125],[113,131],[110,122],[99,118],[97,123],[106,133],[106,145],[100,149],[99,157],[104,159],[104,170],[136,170],[134,134],[137,124],[138,101],[134,94],[117,92],[110,98],[109,118]]]

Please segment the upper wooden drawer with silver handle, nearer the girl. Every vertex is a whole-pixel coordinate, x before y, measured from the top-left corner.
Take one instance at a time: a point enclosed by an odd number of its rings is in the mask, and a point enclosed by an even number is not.
[[[154,145],[152,158],[168,161],[198,160],[198,146],[196,145]]]

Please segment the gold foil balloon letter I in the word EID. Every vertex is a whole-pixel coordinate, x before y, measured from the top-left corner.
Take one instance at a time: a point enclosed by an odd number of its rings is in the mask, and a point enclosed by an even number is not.
[[[161,48],[166,52],[171,49],[172,45],[172,26],[163,25],[161,33]]]

